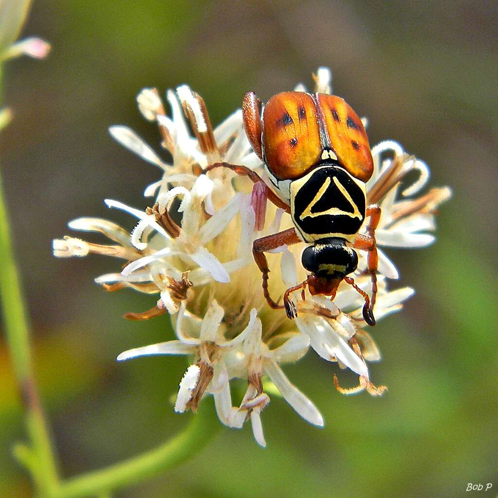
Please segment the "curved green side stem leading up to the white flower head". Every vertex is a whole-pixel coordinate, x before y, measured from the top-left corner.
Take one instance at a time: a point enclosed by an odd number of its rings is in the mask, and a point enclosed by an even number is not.
[[[125,486],[156,476],[198,453],[210,441],[220,423],[210,406],[203,406],[189,426],[166,443],[137,457],[61,483],[53,498],[105,496]]]

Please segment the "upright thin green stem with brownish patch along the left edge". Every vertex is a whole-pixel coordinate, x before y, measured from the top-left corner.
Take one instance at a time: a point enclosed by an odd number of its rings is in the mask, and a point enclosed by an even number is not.
[[[1,68],[0,68],[1,83]],[[15,264],[10,227],[3,195],[3,181],[0,174],[0,298],[7,345],[12,359],[12,368],[26,410],[26,425],[36,461],[33,479],[41,496],[49,496],[57,483],[57,469],[47,432],[47,426],[39,402],[33,376],[29,327],[21,292],[19,275]]]

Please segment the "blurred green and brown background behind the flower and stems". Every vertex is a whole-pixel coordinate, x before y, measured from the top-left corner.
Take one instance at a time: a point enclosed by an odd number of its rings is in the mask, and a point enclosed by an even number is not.
[[[159,177],[107,127],[127,124],[159,150],[156,128],[135,107],[142,87],[188,83],[217,124],[246,91],[267,99],[310,85],[327,65],[335,93],[369,117],[371,143],[398,140],[427,161],[433,186],[454,189],[434,246],[390,252],[401,271],[394,286],[417,294],[373,330],[383,360],[371,366],[372,379],[389,390],[344,397],[332,382],[337,367],[309,353],[286,372],[325,428],[274,397],[262,415],[265,450],[249,426],[222,429],[188,464],[116,496],[496,496],[497,10],[492,1],[35,0],[23,34],[53,50],[45,61],[6,67],[4,101],[15,115],[2,133],[1,162],[64,476],[151,448],[191,416],[169,402],[183,359],[115,362],[125,349],[172,338],[164,317],[121,318],[152,298],[93,283],[119,262],[51,255],[51,240],[78,216],[132,228],[103,199],[144,208],[143,188]],[[27,497],[29,482],[10,456],[24,433],[0,348],[0,496]],[[493,489],[466,493],[467,483]]]

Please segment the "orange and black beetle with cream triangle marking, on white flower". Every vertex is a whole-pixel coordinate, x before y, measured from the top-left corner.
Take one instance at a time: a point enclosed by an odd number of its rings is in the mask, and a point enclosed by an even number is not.
[[[267,198],[290,214],[294,227],[257,239],[253,255],[262,273],[263,293],[269,306],[285,308],[289,318],[297,316],[290,295],[308,287],[311,295],[335,297],[345,280],[365,300],[363,317],[373,326],[373,305],[377,293],[377,249],[375,228],[380,219],[377,204],[367,206],[366,182],[373,173],[370,145],[358,115],[336,95],[283,92],[263,107],[254,92],[244,96],[244,128],[253,151],[263,161],[273,190]],[[260,176],[245,166],[214,163],[248,176],[254,183]],[[278,195],[277,195],[278,194]],[[367,233],[359,234],[370,217]],[[306,280],[287,289],[283,306],[268,292],[268,263],[265,251],[299,242],[310,244],[301,262],[309,272]],[[368,251],[368,273],[372,297],[352,277],[358,266],[355,249]]]

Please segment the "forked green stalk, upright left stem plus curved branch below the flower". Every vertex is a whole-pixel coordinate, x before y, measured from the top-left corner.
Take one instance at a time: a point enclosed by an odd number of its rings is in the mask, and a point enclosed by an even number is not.
[[[13,256],[3,191],[0,174],[0,302],[7,345],[26,413],[29,436],[28,444],[14,445],[13,454],[31,474],[37,496],[110,497],[111,492],[142,482],[198,453],[220,426],[213,410],[208,407],[194,416],[183,432],[153,450],[106,469],[89,472],[65,482],[59,481],[56,459],[33,375],[28,320]]]

